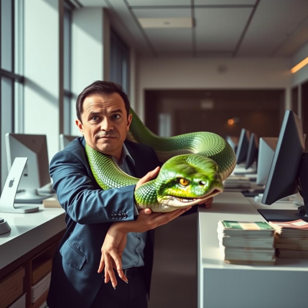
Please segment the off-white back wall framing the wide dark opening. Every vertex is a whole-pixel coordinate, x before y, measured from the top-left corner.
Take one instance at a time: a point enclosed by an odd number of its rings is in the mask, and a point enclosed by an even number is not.
[[[225,72],[219,72],[224,68]],[[138,63],[138,106],[144,120],[147,89],[287,89],[290,104],[290,59],[141,58]]]

